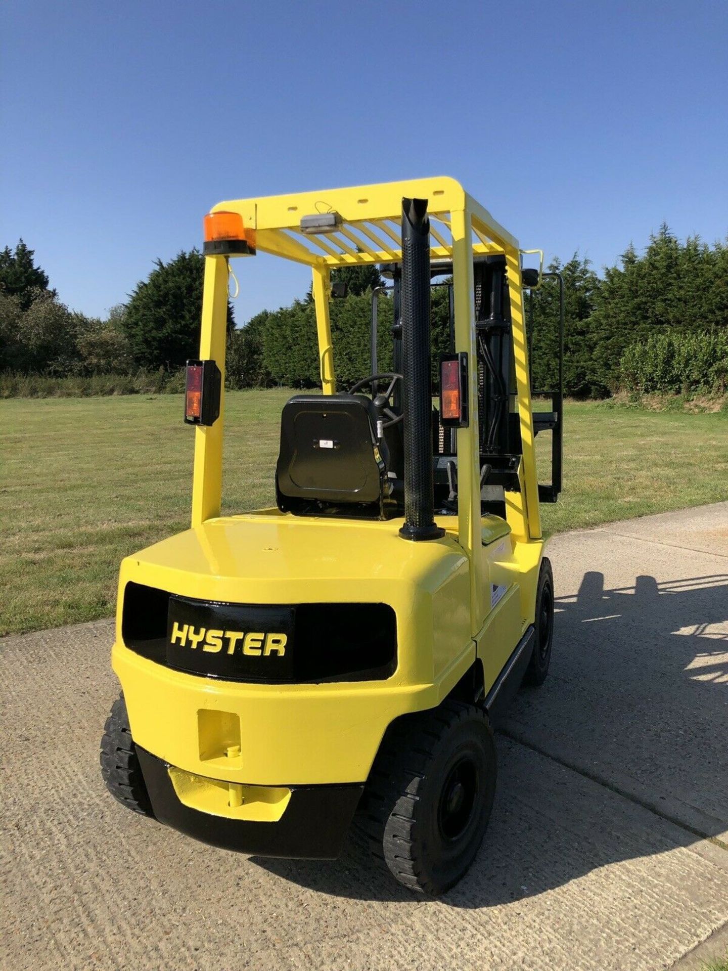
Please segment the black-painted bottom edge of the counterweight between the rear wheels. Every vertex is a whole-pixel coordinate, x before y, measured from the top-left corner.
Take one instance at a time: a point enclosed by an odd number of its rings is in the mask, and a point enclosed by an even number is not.
[[[154,817],[203,843],[260,856],[336,859],[362,785],[291,786],[278,822],[229,820],[190,809],[177,797],[168,763],[136,747]]]

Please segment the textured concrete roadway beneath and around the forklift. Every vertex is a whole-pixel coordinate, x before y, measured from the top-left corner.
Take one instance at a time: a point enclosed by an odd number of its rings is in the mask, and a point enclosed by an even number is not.
[[[111,622],[0,641],[0,967],[628,971],[720,953],[728,503],[549,555],[551,673],[513,703],[485,842],[441,900],[353,840],[334,863],[248,859],[128,813],[98,771]]]

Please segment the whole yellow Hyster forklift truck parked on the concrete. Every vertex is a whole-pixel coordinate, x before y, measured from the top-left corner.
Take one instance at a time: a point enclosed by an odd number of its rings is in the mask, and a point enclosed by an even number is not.
[[[560,488],[561,395],[532,412],[523,300],[540,274],[447,178],[223,202],[204,221],[191,528],[121,564],[105,782],[247,854],[335,858],[355,820],[397,880],[440,893],[490,816],[492,720],[551,653],[539,503]],[[312,268],[323,393],[282,409],[277,506],[222,516],[229,261],[256,251]],[[393,370],[375,294],[372,374],[338,388],[330,275],[362,264],[391,281]]]

